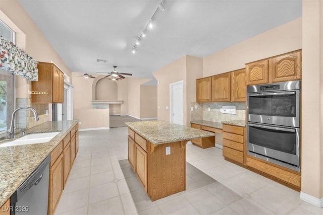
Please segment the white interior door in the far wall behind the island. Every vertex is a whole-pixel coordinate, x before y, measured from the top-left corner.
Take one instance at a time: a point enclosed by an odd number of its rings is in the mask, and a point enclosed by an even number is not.
[[[170,122],[184,125],[184,81],[170,84]]]

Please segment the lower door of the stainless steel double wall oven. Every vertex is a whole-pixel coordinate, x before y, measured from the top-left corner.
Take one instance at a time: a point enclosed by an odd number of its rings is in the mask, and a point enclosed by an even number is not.
[[[248,122],[248,154],[299,171],[300,130]]]

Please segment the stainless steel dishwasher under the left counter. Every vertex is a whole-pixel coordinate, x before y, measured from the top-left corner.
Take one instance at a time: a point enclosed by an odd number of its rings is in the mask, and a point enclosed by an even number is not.
[[[50,155],[31,173],[10,198],[11,215],[44,215],[48,211]]]

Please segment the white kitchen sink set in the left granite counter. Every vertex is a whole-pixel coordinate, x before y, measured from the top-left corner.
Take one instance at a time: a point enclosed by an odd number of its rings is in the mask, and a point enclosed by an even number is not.
[[[40,144],[50,141],[53,137],[55,137],[58,132],[45,132],[45,133],[31,133],[27,134],[23,137],[20,137],[14,141],[5,142],[0,144],[0,147],[12,147],[12,146],[20,146],[20,145],[28,145],[28,144]]]

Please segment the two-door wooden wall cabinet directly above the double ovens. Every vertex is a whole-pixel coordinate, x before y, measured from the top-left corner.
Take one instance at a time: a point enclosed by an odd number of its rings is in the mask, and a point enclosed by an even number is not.
[[[302,79],[301,50],[246,64],[247,85]]]

